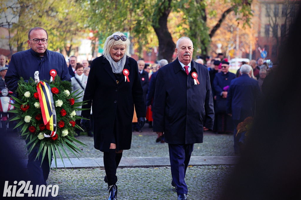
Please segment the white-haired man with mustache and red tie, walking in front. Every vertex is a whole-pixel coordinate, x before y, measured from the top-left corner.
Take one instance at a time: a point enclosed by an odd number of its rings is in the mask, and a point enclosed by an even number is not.
[[[191,39],[182,37],[178,58],[158,70],[153,120],[158,136],[164,132],[169,147],[172,186],[178,200],[187,199],[186,169],[193,146],[203,142],[203,131],[213,128],[214,111],[208,68],[192,60]]]

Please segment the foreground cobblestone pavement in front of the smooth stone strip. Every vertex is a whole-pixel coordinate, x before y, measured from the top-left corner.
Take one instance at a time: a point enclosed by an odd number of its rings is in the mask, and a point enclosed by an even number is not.
[[[220,197],[234,165],[194,166],[187,169],[185,182],[189,200],[215,200]],[[58,196],[50,199],[107,199],[104,170],[51,170],[47,184],[59,186]],[[172,200],[177,193],[171,183],[170,167],[117,169],[117,199]]]

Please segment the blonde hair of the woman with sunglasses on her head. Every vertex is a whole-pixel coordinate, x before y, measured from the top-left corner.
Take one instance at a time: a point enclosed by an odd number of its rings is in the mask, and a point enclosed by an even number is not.
[[[124,55],[128,56],[128,50],[129,50],[129,46],[130,46],[130,41],[129,38],[126,38],[126,41],[122,41],[121,38],[119,40],[115,40],[113,38],[113,35],[119,35],[120,37],[123,36],[124,34],[120,31],[113,33],[112,35],[110,35],[109,37],[107,37],[105,43],[104,43],[104,56],[106,56],[107,54],[110,54],[110,50],[113,47],[122,47],[125,45],[125,51],[124,51]],[[126,35],[124,35],[126,36]],[[113,39],[112,39],[113,38]]]

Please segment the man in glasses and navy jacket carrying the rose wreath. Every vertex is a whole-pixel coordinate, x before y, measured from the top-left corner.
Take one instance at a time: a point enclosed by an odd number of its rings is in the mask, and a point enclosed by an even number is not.
[[[31,29],[28,32],[27,43],[30,49],[11,56],[11,62],[5,75],[6,86],[9,90],[15,91],[17,89],[20,77],[23,77],[25,81],[28,81],[30,77],[34,78],[36,71],[39,71],[40,80],[52,80],[50,71],[55,70],[61,80],[71,81],[64,56],[47,49],[48,34],[45,29],[40,27]],[[28,141],[26,140],[26,142]],[[27,149],[29,148],[31,145],[27,147]],[[28,155],[29,176],[33,179],[33,185],[46,185],[50,171],[48,159],[44,159],[41,163],[42,153],[36,159],[37,153],[38,148],[35,147]],[[46,157],[48,156],[46,155]]]

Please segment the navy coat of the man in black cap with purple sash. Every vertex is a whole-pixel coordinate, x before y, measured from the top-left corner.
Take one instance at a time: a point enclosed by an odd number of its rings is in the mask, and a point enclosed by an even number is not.
[[[223,72],[215,74],[215,78],[213,80],[213,93],[216,95],[217,105],[215,105],[215,111],[218,113],[226,114],[227,100],[222,98],[221,92],[224,91],[223,88],[225,86],[230,85],[231,80],[234,78],[236,78],[236,75],[231,72],[228,72],[227,74],[224,74]]]

